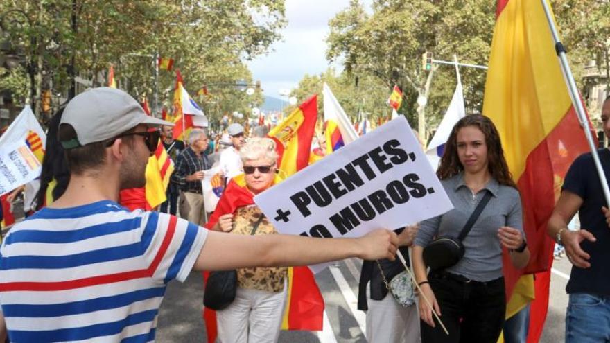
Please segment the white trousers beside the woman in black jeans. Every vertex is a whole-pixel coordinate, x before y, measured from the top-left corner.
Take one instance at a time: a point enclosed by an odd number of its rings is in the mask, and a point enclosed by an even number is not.
[[[415,304],[403,307],[387,293],[383,300],[369,297],[367,285],[367,340],[371,343],[419,343],[419,297]]]

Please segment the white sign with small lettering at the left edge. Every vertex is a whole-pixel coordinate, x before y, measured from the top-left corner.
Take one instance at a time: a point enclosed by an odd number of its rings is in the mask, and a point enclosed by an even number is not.
[[[40,175],[42,165],[25,141],[0,148],[0,195],[26,184]]]

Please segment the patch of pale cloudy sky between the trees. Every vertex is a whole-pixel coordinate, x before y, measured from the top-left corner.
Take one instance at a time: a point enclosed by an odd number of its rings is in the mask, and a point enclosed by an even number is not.
[[[305,74],[317,75],[329,67],[325,42],[329,20],[348,5],[349,0],[286,0],[288,25],[281,30],[281,40],[268,55],[248,63],[266,96],[286,100],[280,89],[295,88]]]

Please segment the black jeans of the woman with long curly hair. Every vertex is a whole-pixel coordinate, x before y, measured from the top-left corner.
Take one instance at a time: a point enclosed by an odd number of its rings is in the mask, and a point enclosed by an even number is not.
[[[496,343],[504,324],[506,299],[504,278],[487,282],[469,281],[447,272],[430,272],[430,287],[441,309],[435,328],[421,321],[421,342]]]

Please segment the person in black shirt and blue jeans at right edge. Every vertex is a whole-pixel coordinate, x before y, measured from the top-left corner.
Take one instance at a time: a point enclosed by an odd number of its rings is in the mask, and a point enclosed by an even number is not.
[[[610,97],[602,106],[604,133],[610,134]],[[610,150],[598,150],[610,179]],[[591,152],[580,155],[566,174],[561,196],[548,220],[548,235],[566,247],[572,263],[566,292],[566,342],[610,342],[610,211]],[[582,229],[568,222],[578,211]]]

